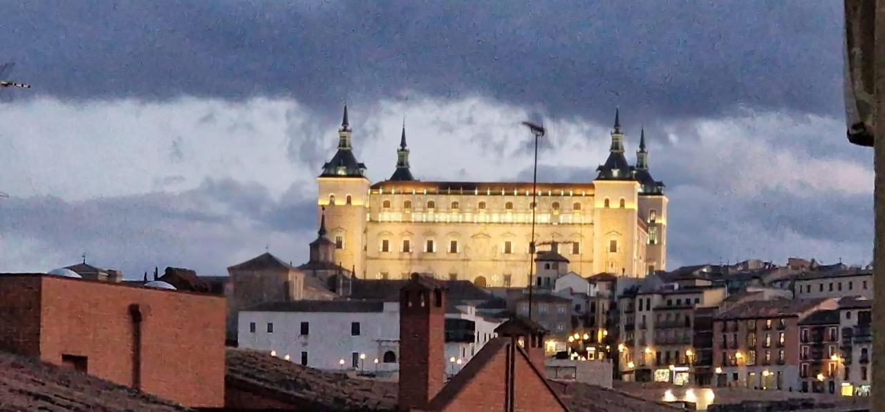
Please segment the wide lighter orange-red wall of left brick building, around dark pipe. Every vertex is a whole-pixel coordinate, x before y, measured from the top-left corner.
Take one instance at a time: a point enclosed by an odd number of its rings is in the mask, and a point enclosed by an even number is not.
[[[216,296],[42,277],[40,354],[88,356],[89,374],[133,385],[142,312],[141,390],[189,407],[224,404],[225,300]],[[0,281],[0,284],[4,282]]]

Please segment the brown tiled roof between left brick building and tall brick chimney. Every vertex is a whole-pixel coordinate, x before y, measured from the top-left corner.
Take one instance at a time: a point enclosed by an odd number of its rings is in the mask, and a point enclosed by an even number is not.
[[[244,349],[227,349],[225,382],[295,410],[396,409],[396,382],[350,378]]]

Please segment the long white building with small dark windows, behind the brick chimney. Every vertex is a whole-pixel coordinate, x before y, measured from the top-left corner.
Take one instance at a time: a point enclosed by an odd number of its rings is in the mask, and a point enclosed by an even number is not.
[[[238,324],[239,347],[321,370],[399,371],[397,301],[266,303],[240,311]],[[473,306],[447,309],[445,357],[446,362],[454,358],[451,372],[460,370],[494,338],[499,324],[500,320],[478,315]]]

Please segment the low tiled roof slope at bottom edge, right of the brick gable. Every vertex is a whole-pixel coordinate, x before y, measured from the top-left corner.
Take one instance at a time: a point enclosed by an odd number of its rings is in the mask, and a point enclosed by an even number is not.
[[[575,381],[550,381],[559,399],[574,411],[590,412],[673,412],[682,410],[663,402],[649,401],[630,393]]]

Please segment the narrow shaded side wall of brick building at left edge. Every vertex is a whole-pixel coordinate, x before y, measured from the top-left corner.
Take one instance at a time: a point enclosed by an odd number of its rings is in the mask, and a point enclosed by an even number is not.
[[[40,355],[40,278],[3,276],[0,282],[0,350]]]

